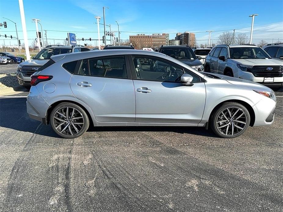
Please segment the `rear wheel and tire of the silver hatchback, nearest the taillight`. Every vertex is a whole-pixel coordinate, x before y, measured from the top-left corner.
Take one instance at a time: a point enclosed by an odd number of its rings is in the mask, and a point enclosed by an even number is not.
[[[66,116],[67,111],[68,116]],[[60,137],[77,138],[89,128],[89,117],[85,110],[77,104],[62,102],[52,110],[50,124]]]

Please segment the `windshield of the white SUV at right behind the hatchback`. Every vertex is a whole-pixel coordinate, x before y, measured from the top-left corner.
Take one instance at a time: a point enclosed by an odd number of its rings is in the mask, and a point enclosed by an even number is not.
[[[265,59],[269,55],[259,47],[234,47],[230,48],[231,59]]]

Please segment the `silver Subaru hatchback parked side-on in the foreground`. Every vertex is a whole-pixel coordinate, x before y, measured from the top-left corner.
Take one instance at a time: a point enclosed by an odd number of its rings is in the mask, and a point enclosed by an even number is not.
[[[157,65],[158,64],[158,65]],[[200,73],[162,53],[118,49],[51,57],[31,76],[27,113],[64,138],[94,126],[205,126],[223,138],[271,125],[266,86]]]

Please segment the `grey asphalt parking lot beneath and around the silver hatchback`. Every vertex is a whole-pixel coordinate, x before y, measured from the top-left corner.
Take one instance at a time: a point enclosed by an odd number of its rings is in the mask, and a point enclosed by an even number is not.
[[[0,99],[0,211],[283,210],[282,97],[272,126],[234,139],[185,127],[62,139],[25,101]]]

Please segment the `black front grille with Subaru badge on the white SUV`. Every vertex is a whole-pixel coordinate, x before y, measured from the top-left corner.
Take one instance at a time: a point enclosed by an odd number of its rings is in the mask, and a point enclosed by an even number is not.
[[[267,68],[272,68],[271,71]],[[260,66],[255,65],[249,68],[248,71],[252,72],[255,77],[282,77],[283,76],[283,66]]]

